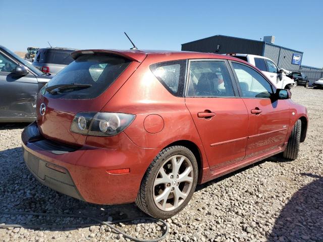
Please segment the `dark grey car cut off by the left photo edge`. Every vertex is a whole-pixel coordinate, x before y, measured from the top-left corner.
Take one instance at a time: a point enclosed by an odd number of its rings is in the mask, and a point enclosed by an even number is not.
[[[51,77],[0,45],[0,122],[32,122],[36,95]]]

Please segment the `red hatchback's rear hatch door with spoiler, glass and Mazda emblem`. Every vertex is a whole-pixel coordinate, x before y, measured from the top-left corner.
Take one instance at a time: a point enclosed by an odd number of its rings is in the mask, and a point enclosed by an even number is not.
[[[100,111],[145,56],[144,53],[127,56],[116,51],[74,52],[75,61],[38,94],[36,110],[40,133],[52,141],[82,146],[86,135],[70,131],[75,114]]]

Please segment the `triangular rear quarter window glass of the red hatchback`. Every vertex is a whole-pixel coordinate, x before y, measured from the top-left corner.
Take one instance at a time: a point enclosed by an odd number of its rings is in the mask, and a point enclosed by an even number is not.
[[[186,74],[186,59],[157,63],[150,66],[150,71],[174,96],[182,97]]]

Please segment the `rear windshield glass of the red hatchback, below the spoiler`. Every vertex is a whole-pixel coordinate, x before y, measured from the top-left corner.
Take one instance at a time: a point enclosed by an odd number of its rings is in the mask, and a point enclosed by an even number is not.
[[[47,85],[41,89],[46,97],[64,99],[91,99],[99,96],[126,70],[131,62],[121,56],[86,54],[78,57],[64,68]],[[45,89],[63,84],[89,85],[82,89],[55,89],[48,92]]]

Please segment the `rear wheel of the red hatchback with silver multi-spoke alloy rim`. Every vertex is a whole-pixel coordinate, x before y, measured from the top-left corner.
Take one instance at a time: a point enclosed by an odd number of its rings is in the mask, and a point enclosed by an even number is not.
[[[170,218],[190,201],[197,177],[196,158],[188,148],[165,148],[146,170],[135,203],[151,217]]]

